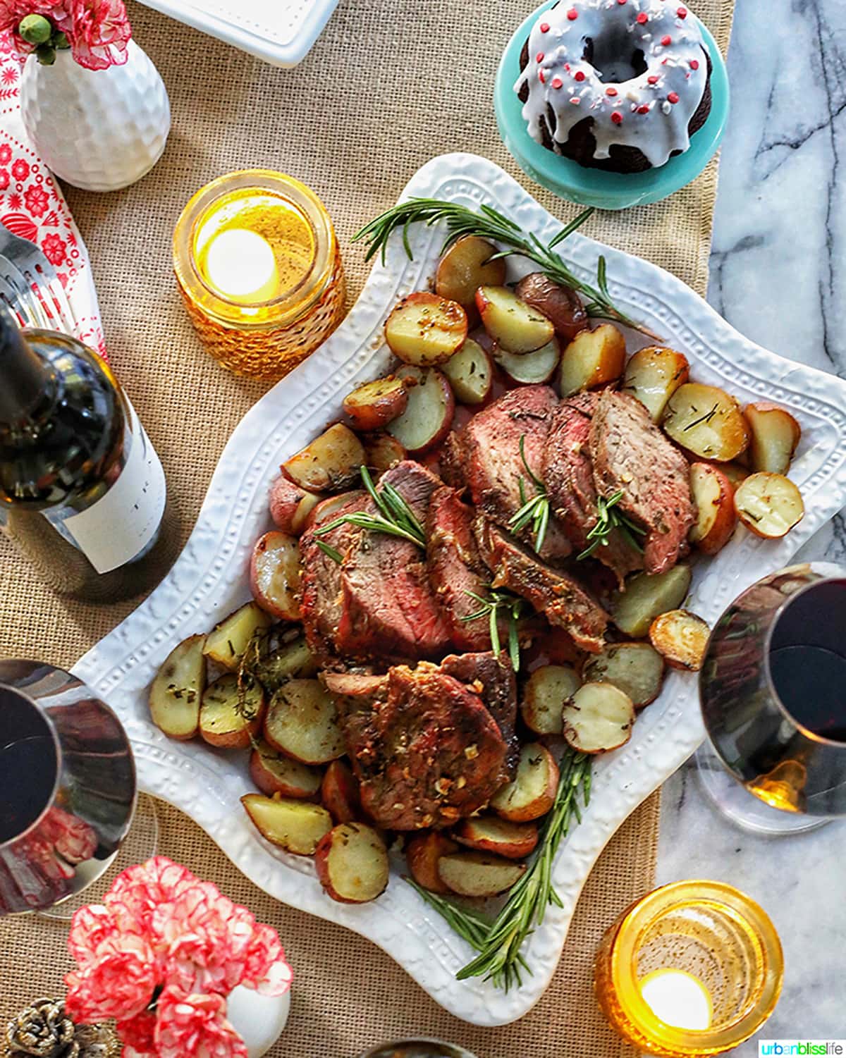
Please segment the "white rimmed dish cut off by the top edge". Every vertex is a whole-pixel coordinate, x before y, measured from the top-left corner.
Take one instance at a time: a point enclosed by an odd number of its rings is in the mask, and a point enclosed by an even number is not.
[[[294,67],[311,50],[338,0],[141,0],[195,30],[273,66]]]

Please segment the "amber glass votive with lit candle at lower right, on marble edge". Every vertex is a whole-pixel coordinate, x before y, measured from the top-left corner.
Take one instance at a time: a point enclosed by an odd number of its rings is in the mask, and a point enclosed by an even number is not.
[[[694,1058],[749,1039],[773,1013],[782,975],[778,935],[754,900],[722,882],[679,881],[608,929],[594,983],[625,1040],[651,1055]]]

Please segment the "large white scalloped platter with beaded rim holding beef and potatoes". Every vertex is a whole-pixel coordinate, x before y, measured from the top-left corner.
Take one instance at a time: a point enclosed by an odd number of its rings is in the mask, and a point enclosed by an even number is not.
[[[487,202],[543,240],[561,226],[507,174],[472,154],[429,162],[402,193],[403,198],[413,196],[471,207]],[[187,813],[257,886],[368,937],[456,1017],[500,1025],[524,1015],[550,983],[579,892],[609,838],[703,738],[696,677],[671,674],[660,698],[641,714],[628,745],[597,760],[590,806],[555,864],[562,907],[548,909],[524,949],[534,974],[508,993],[479,979],[455,981],[455,971],[472,952],[398,875],[373,904],[330,900],[309,859],[274,849],[248,822],[238,803],[252,788],[247,754],[213,750],[200,742],[170,742],[150,723],[146,705],[146,688],[172,647],[185,636],[208,631],[249,598],[249,557],[256,537],[270,527],[267,493],[280,463],[341,414],[341,400],[354,385],[384,373],[391,359],[382,341],[384,318],[400,297],[427,286],[443,237],[437,229],[412,230],[411,261],[397,239],[335,334],[245,416],[174,569],[74,672],[126,725],[141,787]],[[695,564],[689,605],[713,623],[741,589],[787,565],[846,504],[846,382],[756,346],[683,282],[637,257],[578,234],[559,251],[589,280],[605,254],[614,300],[683,350],[697,381],[723,385],[744,402],[777,401],[802,424],[791,476],[805,497],[805,518],[781,541],[762,541],[739,529],[716,559]],[[514,276],[529,271],[514,261],[510,267]],[[640,335],[631,338],[630,351],[647,344]],[[295,963],[296,953],[291,956]]]

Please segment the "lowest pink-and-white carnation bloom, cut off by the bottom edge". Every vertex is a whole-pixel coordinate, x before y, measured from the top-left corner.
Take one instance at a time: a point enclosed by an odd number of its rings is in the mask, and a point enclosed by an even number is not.
[[[244,1040],[226,1014],[222,996],[183,996],[165,988],[158,1002],[159,1058],[247,1058]]]

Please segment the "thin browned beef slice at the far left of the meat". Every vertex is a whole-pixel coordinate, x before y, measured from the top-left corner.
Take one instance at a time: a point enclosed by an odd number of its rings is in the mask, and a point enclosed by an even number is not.
[[[334,517],[352,514],[362,507],[361,493],[350,493],[348,501],[336,510]],[[341,566],[320,548],[318,541],[325,542],[343,558],[361,532],[355,526],[341,525],[322,536],[316,536],[314,530],[308,529],[300,537],[300,610],[309,649],[322,659],[336,653],[335,634],[343,600]]]

